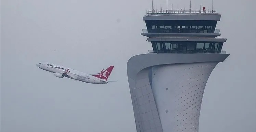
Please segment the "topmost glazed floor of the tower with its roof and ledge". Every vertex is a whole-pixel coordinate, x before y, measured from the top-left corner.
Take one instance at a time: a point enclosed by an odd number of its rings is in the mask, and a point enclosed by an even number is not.
[[[147,11],[143,16],[147,29],[142,29],[143,36],[190,36],[217,37],[221,34],[216,29],[221,14],[216,11]]]

